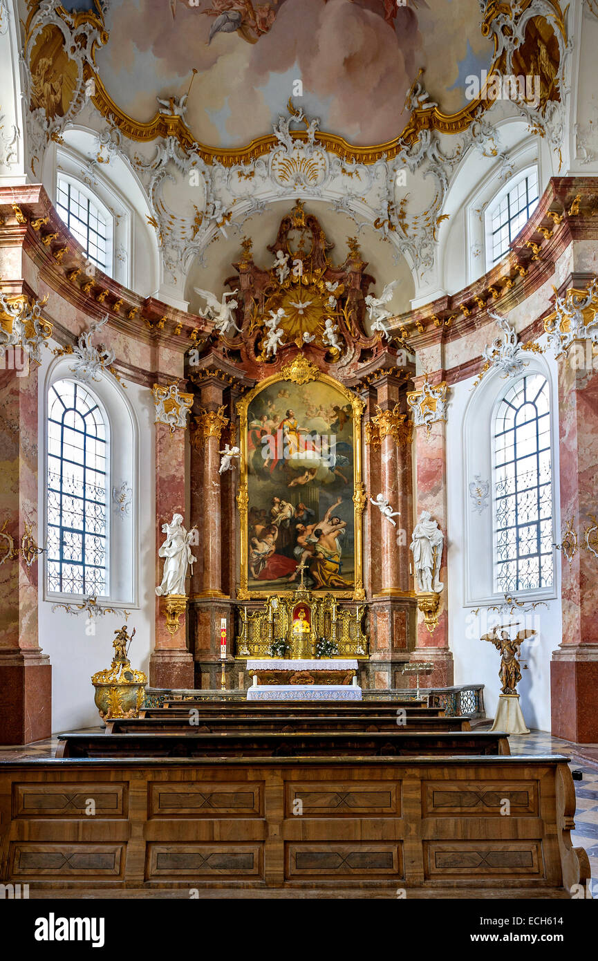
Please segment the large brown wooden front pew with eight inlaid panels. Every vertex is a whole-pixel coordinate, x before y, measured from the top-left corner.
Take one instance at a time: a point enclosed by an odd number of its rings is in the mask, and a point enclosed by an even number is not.
[[[241,888],[568,898],[589,864],[571,845],[566,761],[0,761],[0,881],[74,897]]]

